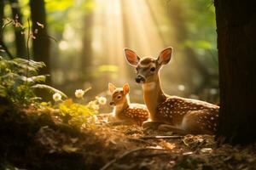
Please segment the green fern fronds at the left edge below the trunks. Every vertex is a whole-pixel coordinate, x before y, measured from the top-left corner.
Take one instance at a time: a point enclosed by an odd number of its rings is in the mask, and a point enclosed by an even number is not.
[[[44,67],[43,62],[27,59],[3,59],[0,57],[0,96],[9,99],[15,105],[29,105],[38,101],[34,88],[46,88],[51,92],[59,90],[42,85],[46,77],[38,75],[38,70]]]

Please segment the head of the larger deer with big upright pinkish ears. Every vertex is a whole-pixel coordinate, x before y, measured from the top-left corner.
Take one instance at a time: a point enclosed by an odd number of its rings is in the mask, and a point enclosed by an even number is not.
[[[125,57],[131,66],[136,67],[137,83],[154,82],[158,78],[158,73],[162,65],[166,65],[172,58],[172,48],[161,51],[159,57],[145,57],[140,59],[137,54],[129,48],[125,48]]]

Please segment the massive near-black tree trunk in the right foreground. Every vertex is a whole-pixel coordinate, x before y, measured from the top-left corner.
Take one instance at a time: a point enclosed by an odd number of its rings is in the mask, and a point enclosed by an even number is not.
[[[220,112],[218,139],[256,139],[256,1],[215,0]]]

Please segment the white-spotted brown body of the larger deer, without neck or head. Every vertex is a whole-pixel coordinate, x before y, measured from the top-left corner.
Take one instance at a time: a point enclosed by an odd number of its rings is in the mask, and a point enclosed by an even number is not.
[[[157,114],[154,117],[154,121],[166,122],[166,124],[182,128],[189,128],[189,123],[193,123],[193,127],[199,127],[195,129],[213,133],[217,127],[218,109],[218,105],[212,105],[204,101],[172,96],[166,98],[164,102],[157,106]],[[184,120],[185,117],[189,121],[186,122]],[[193,132],[193,129],[186,130],[191,133],[200,133]]]

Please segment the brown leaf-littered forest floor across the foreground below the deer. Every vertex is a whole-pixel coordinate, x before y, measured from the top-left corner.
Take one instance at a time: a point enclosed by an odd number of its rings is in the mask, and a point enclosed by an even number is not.
[[[0,169],[256,169],[256,144],[218,146],[213,136],[138,126],[99,118],[78,130],[51,113],[0,111]]]

